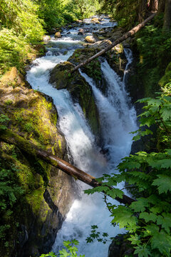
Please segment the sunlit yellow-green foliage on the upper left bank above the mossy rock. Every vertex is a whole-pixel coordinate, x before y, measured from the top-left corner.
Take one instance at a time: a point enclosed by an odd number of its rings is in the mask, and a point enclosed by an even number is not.
[[[31,44],[43,37],[38,6],[31,0],[0,0],[0,74],[11,66],[21,69],[31,52]]]

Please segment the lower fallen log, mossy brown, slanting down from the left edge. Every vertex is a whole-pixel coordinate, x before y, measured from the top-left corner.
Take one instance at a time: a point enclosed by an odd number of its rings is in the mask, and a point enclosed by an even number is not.
[[[84,171],[81,171],[79,168],[76,168],[75,166],[71,165],[66,161],[63,161],[61,158],[54,156],[48,151],[38,148],[33,143],[27,141],[25,138],[19,136],[19,134],[17,133],[14,133],[10,129],[4,130],[0,127],[0,138],[2,141],[5,141],[6,143],[14,144],[21,151],[28,153],[30,156],[34,156],[34,158],[40,158],[41,160],[46,161],[46,163],[49,163],[52,166],[55,166],[56,168],[60,168],[61,171],[64,171],[70,176],[73,176],[73,178],[76,178],[80,181],[83,181],[84,183],[87,183],[89,186],[101,186],[101,184],[98,181],[96,181],[95,177],[89,175]],[[124,204],[130,204],[133,203],[133,201],[135,201],[133,198],[130,198],[126,195],[123,195],[123,198],[116,197],[115,200]]]

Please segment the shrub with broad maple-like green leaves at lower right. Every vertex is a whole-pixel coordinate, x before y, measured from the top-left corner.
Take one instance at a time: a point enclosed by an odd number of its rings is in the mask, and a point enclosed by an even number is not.
[[[135,249],[138,257],[170,256],[171,250],[171,97],[157,94],[155,99],[140,100],[145,103],[144,111],[140,114],[140,127],[155,126],[160,131],[162,148],[160,152],[140,151],[123,158],[118,165],[119,174],[103,176],[99,188],[88,189],[86,193],[103,191],[106,195],[122,198],[122,191],[116,191],[116,184],[125,181],[136,201],[130,206],[113,206],[105,202],[113,216],[113,225],[129,231],[128,241]],[[139,130],[138,136],[146,136],[150,129]],[[157,150],[157,149],[156,149]],[[111,189],[112,187],[112,189]],[[113,193],[111,192],[113,191]],[[93,231],[88,241],[98,238]]]

